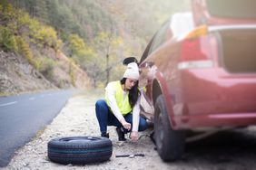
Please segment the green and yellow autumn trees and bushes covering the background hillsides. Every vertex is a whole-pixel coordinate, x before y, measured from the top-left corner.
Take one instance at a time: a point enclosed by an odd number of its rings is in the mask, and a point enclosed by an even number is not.
[[[174,3],[0,0],[0,49],[23,56],[58,88],[77,86],[75,68],[86,72],[94,88],[103,87],[120,79],[123,58],[139,59],[163,20],[188,8],[185,0]],[[66,67],[59,56],[66,57]],[[56,69],[67,70],[69,78]]]

